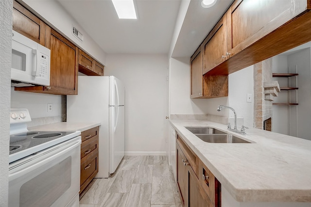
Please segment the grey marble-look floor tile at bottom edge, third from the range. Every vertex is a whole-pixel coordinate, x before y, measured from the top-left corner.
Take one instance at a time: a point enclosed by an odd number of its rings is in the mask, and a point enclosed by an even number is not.
[[[133,184],[128,196],[126,207],[150,207],[151,184]]]

